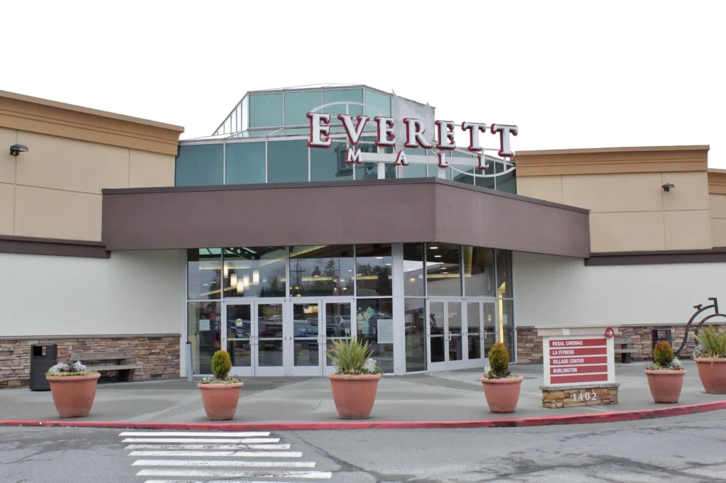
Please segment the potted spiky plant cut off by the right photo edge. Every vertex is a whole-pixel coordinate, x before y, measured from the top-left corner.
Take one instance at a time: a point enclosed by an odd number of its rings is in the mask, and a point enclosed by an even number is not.
[[[717,332],[713,325],[699,330],[696,367],[703,389],[710,394],[726,394],[726,331]]]

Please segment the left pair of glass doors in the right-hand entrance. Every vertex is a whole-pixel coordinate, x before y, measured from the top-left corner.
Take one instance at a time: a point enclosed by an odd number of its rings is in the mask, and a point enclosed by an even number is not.
[[[466,367],[465,330],[460,301],[429,300],[429,351],[431,370]]]

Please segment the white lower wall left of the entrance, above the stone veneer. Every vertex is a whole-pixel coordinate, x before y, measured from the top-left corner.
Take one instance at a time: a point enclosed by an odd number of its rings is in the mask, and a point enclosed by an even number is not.
[[[184,251],[0,253],[0,336],[181,333]]]

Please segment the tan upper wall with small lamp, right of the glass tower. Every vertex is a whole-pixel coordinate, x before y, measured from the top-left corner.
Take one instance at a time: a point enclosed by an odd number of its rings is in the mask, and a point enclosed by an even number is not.
[[[522,176],[517,192],[589,209],[595,253],[712,247],[706,171]]]

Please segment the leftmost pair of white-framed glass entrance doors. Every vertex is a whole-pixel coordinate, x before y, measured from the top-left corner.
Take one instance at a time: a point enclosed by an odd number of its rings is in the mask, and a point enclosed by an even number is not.
[[[283,304],[235,302],[224,304],[227,329],[222,347],[232,360],[234,376],[284,376]]]

